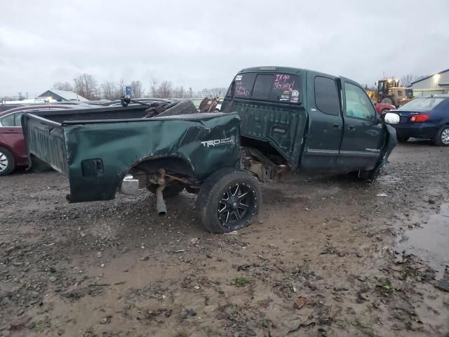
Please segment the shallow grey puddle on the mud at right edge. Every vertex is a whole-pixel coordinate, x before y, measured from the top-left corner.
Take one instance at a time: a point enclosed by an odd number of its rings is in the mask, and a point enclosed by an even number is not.
[[[427,262],[436,270],[437,279],[441,279],[446,265],[449,266],[449,204],[443,204],[427,224],[407,230],[403,237],[398,238],[396,251],[413,254]]]

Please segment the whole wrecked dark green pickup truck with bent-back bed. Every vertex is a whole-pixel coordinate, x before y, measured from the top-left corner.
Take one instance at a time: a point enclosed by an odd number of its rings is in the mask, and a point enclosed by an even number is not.
[[[396,145],[356,82],[311,70],[253,67],[232,80],[220,113],[197,113],[190,101],[24,114],[29,162],[67,175],[69,202],[114,199],[116,192],[164,197],[198,194],[205,230],[250,224],[262,201],[258,181],[284,172],[355,172],[374,179]],[[138,103],[138,102],[135,102]]]

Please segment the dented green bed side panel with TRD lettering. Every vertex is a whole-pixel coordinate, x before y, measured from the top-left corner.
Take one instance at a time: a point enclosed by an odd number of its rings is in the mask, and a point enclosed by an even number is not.
[[[239,166],[237,114],[181,118],[65,125],[69,201],[114,199],[128,170],[145,159],[181,159],[199,181]]]

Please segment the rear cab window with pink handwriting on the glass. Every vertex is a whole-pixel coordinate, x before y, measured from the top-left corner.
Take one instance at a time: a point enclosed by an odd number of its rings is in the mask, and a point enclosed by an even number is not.
[[[295,74],[279,72],[237,74],[229,87],[227,96],[280,103],[300,103],[300,78]]]

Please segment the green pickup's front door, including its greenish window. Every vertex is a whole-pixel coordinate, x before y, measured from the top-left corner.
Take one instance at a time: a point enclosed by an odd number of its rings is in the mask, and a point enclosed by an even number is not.
[[[382,124],[361,86],[343,77],[341,84],[344,128],[337,165],[349,171],[374,169],[385,140]]]

